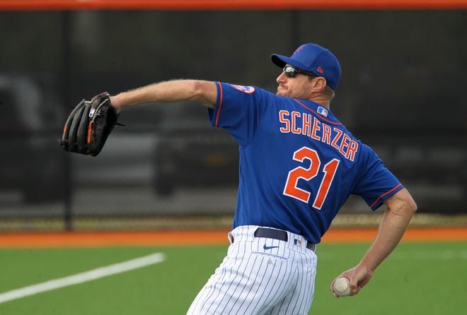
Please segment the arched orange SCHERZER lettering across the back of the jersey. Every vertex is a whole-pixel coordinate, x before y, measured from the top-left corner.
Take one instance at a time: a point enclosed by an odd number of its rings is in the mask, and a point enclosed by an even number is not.
[[[340,129],[323,123],[312,114],[280,110],[279,122],[281,124],[279,131],[282,133],[309,136],[316,141],[332,146],[347,160],[353,161],[355,158],[355,153],[358,150],[357,141],[353,141]]]

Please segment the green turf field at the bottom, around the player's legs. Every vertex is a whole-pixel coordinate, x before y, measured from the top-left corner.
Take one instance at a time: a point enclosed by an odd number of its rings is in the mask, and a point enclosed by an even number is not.
[[[368,244],[318,246],[309,314],[465,314],[467,243],[402,243],[355,297],[335,299],[330,281]],[[153,253],[166,260],[79,285],[0,303],[1,315],[185,314],[226,254],[226,246],[0,249],[0,295]]]

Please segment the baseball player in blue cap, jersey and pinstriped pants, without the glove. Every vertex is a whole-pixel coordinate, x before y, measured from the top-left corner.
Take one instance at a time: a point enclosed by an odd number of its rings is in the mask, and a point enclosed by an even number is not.
[[[386,205],[374,243],[357,266],[341,274],[356,295],[396,247],[416,210],[374,151],[330,111],[341,73],[334,54],[308,43],[291,57],[271,59],[282,69],[276,94],[256,86],[177,80],[110,97],[117,112],[150,102],[200,103],[212,126],[238,141],[231,245],[188,314],[308,314],[316,244],[351,194],[371,210]]]

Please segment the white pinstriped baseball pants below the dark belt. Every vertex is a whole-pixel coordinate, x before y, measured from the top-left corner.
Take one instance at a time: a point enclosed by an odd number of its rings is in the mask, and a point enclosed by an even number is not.
[[[226,258],[192,302],[187,315],[306,315],[314,295],[316,254],[306,239],[254,237],[257,226],[237,227]]]

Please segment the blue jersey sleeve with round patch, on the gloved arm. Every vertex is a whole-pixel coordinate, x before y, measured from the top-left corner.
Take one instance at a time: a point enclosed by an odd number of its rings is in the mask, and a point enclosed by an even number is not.
[[[226,129],[240,145],[248,145],[258,126],[258,111],[265,91],[229,83],[216,82],[216,85],[216,107],[208,109],[212,126]]]

